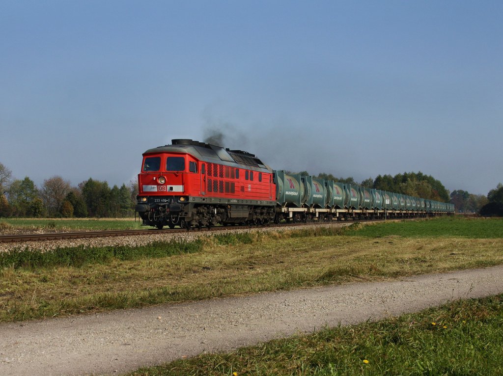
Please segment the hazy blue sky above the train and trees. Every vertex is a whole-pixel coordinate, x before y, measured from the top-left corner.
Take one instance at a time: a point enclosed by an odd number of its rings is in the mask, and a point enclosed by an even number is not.
[[[503,2],[0,1],[0,162],[135,178],[225,133],[271,167],[503,180]]]

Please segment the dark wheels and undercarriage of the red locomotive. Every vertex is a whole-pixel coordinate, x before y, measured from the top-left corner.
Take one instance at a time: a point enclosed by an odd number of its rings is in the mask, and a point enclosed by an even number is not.
[[[168,205],[157,205],[149,211],[140,212],[143,225],[162,229],[213,227],[217,224],[266,224],[275,219],[275,208],[260,205],[210,205],[182,204],[180,211],[171,211]]]

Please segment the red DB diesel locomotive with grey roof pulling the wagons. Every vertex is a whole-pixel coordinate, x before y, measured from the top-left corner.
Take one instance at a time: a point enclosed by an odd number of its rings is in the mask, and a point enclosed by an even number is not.
[[[189,139],[143,153],[138,174],[143,224],[186,228],[275,219],[273,171],[254,154]]]

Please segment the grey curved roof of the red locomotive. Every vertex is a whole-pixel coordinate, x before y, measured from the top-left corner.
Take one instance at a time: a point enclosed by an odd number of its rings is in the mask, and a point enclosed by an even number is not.
[[[172,145],[158,146],[148,149],[143,153],[187,153],[191,154],[200,161],[208,163],[224,164],[226,166],[235,166],[254,170],[267,170],[271,168],[264,164],[255,154],[242,150],[230,150],[221,146],[206,144],[204,142],[193,141],[190,139],[172,140]]]

